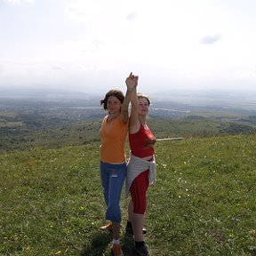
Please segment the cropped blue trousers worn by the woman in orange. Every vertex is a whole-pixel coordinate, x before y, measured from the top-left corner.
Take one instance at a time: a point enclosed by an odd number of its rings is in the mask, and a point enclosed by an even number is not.
[[[105,203],[107,204],[106,220],[121,222],[121,209],[119,205],[126,164],[108,164],[100,161],[100,179],[103,187]]]

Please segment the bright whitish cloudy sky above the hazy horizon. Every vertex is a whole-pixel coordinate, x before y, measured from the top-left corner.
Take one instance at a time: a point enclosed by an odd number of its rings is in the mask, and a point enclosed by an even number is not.
[[[256,91],[255,0],[0,0],[0,88]],[[140,88],[140,89],[139,89]]]

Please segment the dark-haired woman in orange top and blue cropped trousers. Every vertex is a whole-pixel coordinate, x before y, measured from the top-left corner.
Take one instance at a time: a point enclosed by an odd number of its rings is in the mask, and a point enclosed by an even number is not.
[[[101,227],[113,229],[113,248],[115,256],[124,255],[120,245],[120,196],[126,174],[126,156],[124,142],[128,132],[128,107],[132,91],[138,84],[138,77],[132,73],[125,80],[127,87],[125,97],[119,90],[110,90],[100,105],[108,110],[100,127],[100,179],[107,204],[106,220],[111,222]]]

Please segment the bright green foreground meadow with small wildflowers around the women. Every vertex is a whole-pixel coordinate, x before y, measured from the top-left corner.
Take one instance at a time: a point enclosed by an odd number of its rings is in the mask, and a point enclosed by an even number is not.
[[[256,135],[157,141],[151,255],[256,255]],[[109,255],[99,143],[0,155],[0,255]],[[123,226],[128,201],[122,198]],[[131,237],[122,233],[125,255]]]

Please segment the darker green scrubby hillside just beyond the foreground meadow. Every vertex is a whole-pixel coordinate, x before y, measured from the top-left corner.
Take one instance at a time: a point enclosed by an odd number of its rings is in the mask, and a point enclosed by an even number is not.
[[[28,117],[27,117],[28,118]],[[0,152],[26,148],[60,148],[70,145],[83,145],[99,141],[101,119],[91,121],[69,122],[62,124],[60,120],[51,119],[52,124],[36,126],[43,122],[40,118],[35,123],[31,117],[20,124],[18,121],[6,123],[0,116]],[[239,120],[216,119],[204,116],[190,116],[181,119],[165,119],[150,116],[148,124],[157,138],[170,137],[207,137],[220,134],[250,134],[256,133],[256,119]],[[16,119],[14,119],[16,120]],[[243,121],[243,122],[242,122]],[[67,122],[67,121],[66,121]],[[3,127],[1,127],[1,124]],[[5,125],[5,126],[4,126]]]

